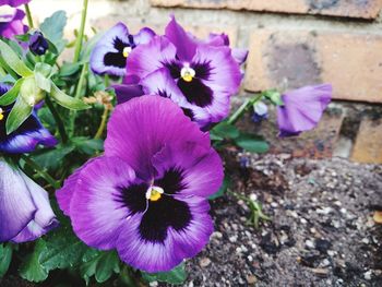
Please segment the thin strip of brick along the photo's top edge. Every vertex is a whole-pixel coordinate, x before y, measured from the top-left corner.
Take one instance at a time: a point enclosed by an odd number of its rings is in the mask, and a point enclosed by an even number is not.
[[[375,19],[382,0],[152,0],[152,4]]]

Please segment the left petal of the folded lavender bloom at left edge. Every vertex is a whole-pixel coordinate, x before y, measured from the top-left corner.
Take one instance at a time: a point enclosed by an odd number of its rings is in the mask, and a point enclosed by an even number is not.
[[[20,234],[36,211],[21,171],[0,160],[0,242]]]

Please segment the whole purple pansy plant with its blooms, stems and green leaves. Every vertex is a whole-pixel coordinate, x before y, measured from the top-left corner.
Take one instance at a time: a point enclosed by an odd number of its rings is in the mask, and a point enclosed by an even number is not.
[[[88,37],[84,0],[71,45],[65,13],[37,27],[28,2],[0,0],[0,283],[181,284],[214,231],[210,201],[231,181],[219,153],[270,148],[236,123],[260,124],[272,105],[278,135],[298,135],[331,85],[264,91],[232,111],[248,51],[226,34],[200,39],[171,15],[164,35],[116,23]],[[232,195],[255,227],[270,219]]]

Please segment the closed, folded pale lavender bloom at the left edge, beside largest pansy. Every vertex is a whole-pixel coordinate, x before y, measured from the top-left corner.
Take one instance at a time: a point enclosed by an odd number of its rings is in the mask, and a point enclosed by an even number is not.
[[[58,225],[48,193],[0,158],[0,242],[35,240]]]

